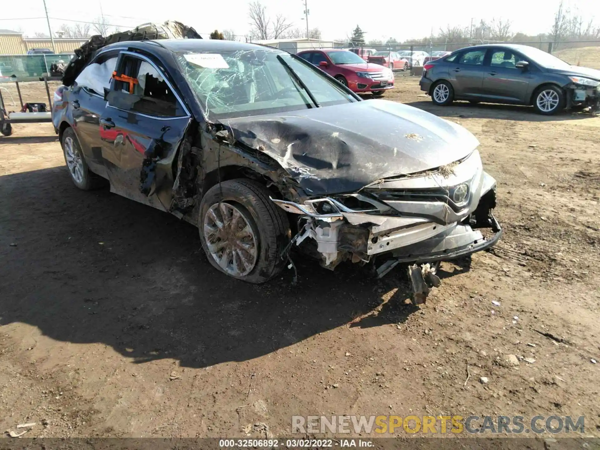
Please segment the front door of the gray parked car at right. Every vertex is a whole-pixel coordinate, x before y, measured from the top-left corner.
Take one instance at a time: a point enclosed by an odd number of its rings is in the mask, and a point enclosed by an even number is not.
[[[526,103],[532,74],[515,67],[517,62],[526,59],[511,49],[492,49],[490,53],[482,93],[490,100]]]

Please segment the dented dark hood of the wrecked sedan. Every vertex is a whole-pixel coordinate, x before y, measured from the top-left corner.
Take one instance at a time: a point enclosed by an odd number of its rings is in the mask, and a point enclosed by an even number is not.
[[[445,166],[479,142],[469,131],[386,100],[227,119],[235,139],[277,160],[309,196]]]

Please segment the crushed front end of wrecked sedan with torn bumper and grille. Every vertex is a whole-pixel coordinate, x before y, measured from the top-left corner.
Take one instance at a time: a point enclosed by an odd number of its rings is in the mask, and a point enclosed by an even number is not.
[[[355,193],[302,204],[273,201],[299,215],[295,244],[312,239],[325,268],[377,257],[380,277],[398,263],[425,265],[485,250],[502,235],[492,214],[496,181],[484,172],[477,150],[437,169],[379,179]]]

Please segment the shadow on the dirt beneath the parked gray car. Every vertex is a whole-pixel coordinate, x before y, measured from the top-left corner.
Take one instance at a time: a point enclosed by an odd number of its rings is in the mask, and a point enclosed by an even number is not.
[[[425,110],[436,116],[478,118],[478,119],[504,119],[511,121],[527,122],[556,122],[589,119],[598,115],[579,110],[563,111],[553,116],[543,116],[533,109],[533,106],[518,106],[510,104],[477,103],[468,101],[455,101],[451,106],[437,106],[429,98],[427,100],[411,101],[404,103],[409,106]]]

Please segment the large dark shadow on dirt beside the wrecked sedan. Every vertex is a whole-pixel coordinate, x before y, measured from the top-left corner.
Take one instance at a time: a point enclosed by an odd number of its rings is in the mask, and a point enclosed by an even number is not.
[[[196,227],[108,190],[80,191],[65,167],[1,176],[0,192],[0,325],[107,344],[134,362],[207,367],[356,317],[379,326],[418,310],[404,304],[400,274],[377,281],[350,264],[331,272],[297,257],[296,286],[291,270],[261,286],[232,280],[209,265]]]

